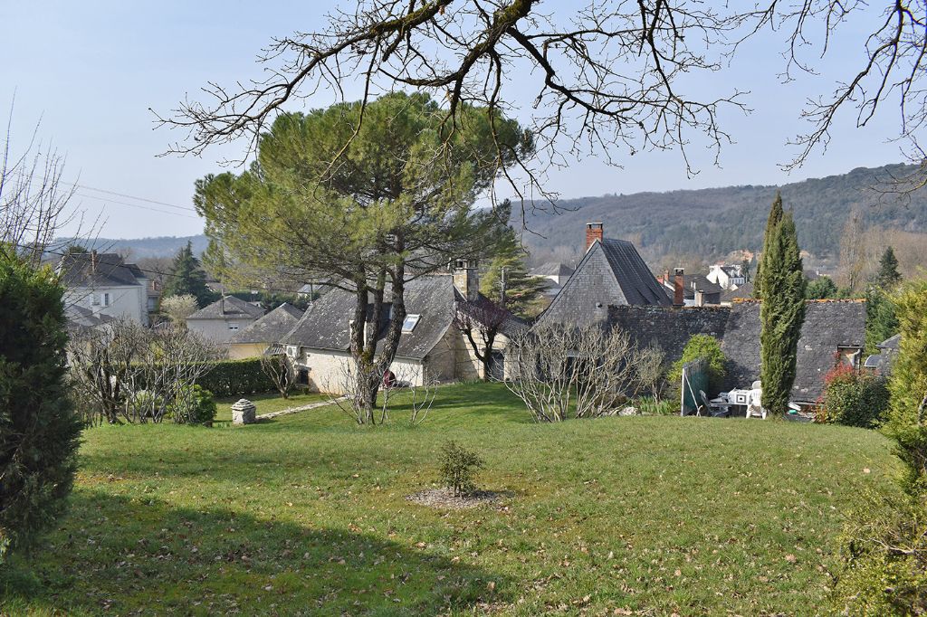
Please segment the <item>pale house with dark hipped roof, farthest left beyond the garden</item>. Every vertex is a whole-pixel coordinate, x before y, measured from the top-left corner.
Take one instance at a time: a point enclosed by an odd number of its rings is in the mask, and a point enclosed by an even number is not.
[[[68,253],[58,262],[57,272],[67,287],[65,306],[89,311],[71,311],[72,315],[124,317],[148,324],[149,279],[116,253]]]

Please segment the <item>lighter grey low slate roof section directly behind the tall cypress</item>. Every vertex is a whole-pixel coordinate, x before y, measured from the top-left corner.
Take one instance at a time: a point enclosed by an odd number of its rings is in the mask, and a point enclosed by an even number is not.
[[[728,384],[743,387],[759,379],[760,302],[737,302],[730,308],[721,349],[728,359]],[[835,363],[838,347],[865,345],[866,303],[860,300],[809,300],[795,358],[794,400],[814,401],[824,375]]]

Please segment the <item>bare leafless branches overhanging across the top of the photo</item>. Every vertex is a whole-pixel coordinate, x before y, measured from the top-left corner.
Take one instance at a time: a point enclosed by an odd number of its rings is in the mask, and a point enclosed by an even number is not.
[[[743,107],[736,87],[703,100],[687,94],[692,76],[721,70],[761,31],[781,37],[783,78],[814,72],[838,34],[855,40],[860,64],[832,76],[832,92],[808,101],[810,122],[795,139],[802,164],[826,146],[838,112],[856,109],[863,126],[900,104],[896,138],[908,157],[919,145],[924,107],[925,3],[883,0],[590,0],[585,7],[540,0],[366,0],[337,9],[324,26],[273,40],[260,56],[263,77],[232,87],[210,83],[205,101],[187,99],[163,119],[187,135],[172,147],[201,153],[247,136],[299,97],[362,93],[367,101],[396,88],[430,92],[453,124],[465,104],[502,115],[524,95],[517,71],[534,80],[531,122],[548,161],[592,151],[612,160],[641,149],[679,149],[706,137],[729,140],[723,106]],[[860,36],[859,28],[862,35]],[[349,94],[346,94],[349,93]],[[525,107],[524,104],[521,107]],[[616,148],[617,146],[617,148]],[[500,148],[500,168],[502,168]],[[523,168],[543,194],[536,168]],[[921,173],[908,181],[923,178]],[[511,179],[511,178],[510,178]],[[512,184],[523,197],[522,181]]]

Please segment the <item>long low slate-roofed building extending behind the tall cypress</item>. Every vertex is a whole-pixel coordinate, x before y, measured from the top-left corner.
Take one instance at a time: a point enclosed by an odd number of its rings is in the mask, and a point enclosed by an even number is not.
[[[760,304],[748,300],[730,307],[611,307],[609,326],[627,332],[639,346],[660,347],[669,361],[681,357],[693,334],[710,334],[721,341],[728,359],[726,387],[744,387],[759,379]],[[838,363],[859,368],[865,340],[865,302],[807,300],[792,399],[813,404],[823,391],[824,376]]]

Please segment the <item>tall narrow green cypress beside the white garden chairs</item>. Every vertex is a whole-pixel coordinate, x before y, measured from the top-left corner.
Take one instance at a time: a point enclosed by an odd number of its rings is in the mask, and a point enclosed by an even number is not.
[[[773,212],[781,208],[781,197],[777,195],[770,220],[774,220]],[[763,289],[759,311],[762,404],[771,413],[784,414],[795,381],[795,354],[805,321],[807,283],[792,212],[784,212],[772,229],[767,227],[766,237],[763,267],[756,277]]]

